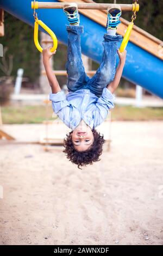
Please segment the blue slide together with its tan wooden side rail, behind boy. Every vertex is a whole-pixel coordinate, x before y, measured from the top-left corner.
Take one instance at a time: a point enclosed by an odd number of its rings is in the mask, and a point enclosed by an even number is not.
[[[43,1],[48,2],[48,1]],[[53,1],[62,3],[64,1]],[[72,2],[68,0],[66,2]],[[80,0],[77,3],[94,3],[93,1]],[[0,0],[0,7],[8,11],[11,15],[34,26],[33,9],[31,1],[21,0]],[[80,24],[84,26],[82,35],[82,52],[87,57],[100,63],[103,48],[102,40],[105,33],[106,11],[100,9],[79,9]],[[67,44],[67,33],[65,29],[66,17],[61,9],[38,9],[37,14],[43,23],[46,24],[63,44]],[[52,19],[52,17],[54,17]],[[57,20],[57,22],[55,22]],[[117,28],[117,33],[124,36],[129,22],[121,18],[121,24]],[[43,28],[39,27],[41,31]],[[128,81],[139,84],[149,92],[163,99],[162,74],[163,74],[163,54],[162,41],[142,29],[133,26],[127,46],[127,60],[123,70],[123,77]],[[120,45],[118,45],[120,47]],[[117,57],[118,62],[118,57]]]

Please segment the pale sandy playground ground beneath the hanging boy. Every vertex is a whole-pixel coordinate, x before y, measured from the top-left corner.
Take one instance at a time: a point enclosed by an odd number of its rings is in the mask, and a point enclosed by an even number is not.
[[[113,122],[111,139],[83,170],[60,148],[2,144],[1,245],[162,245],[163,122]]]

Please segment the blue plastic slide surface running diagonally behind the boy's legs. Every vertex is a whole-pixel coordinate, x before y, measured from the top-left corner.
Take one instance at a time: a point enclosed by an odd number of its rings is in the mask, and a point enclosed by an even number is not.
[[[49,0],[41,1],[50,2]],[[51,2],[57,1],[51,0]],[[29,25],[34,25],[31,0],[0,0],[0,7]],[[37,14],[39,19],[54,31],[58,40],[67,44],[66,25],[68,22],[62,9],[38,9]],[[81,40],[82,52],[100,63],[105,28],[82,14],[80,14],[80,25],[84,26]],[[18,33],[21,32],[18,31]],[[163,99],[163,61],[132,42],[129,42],[127,46],[127,60],[123,77]]]

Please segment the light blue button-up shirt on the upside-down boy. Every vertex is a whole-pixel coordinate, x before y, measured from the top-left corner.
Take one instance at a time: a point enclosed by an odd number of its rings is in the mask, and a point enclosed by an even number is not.
[[[100,125],[114,108],[115,95],[104,88],[101,97],[89,89],[80,89],[65,95],[64,92],[51,93],[53,111],[71,130],[74,130],[83,119],[91,129]]]

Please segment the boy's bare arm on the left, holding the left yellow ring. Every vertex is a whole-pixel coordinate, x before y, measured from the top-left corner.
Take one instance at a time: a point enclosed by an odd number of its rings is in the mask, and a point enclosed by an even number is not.
[[[55,54],[55,52],[51,52],[50,51],[51,47],[47,47],[45,49],[43,49],[42,51],[42,56],[43,56],[43,65],[45,66],[45,70],[46,70],[46,75],[49,81],[49,84],[52,88],[52,93],[58,93],[61,92],[59,83],[57,81],[56,76],[53,74],[51,65],[49,63],[49,59],[52,57],[53,54]]]

